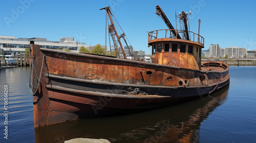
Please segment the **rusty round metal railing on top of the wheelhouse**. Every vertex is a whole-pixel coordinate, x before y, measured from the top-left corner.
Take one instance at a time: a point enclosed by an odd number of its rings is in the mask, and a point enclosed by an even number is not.
[[[176,35],[172,32],[175,31]],[[186,39],[185,35],[186,35],[186,31],[185,30],[177,30],[177,29],[161,29],[161,30],[155,30],[155,31],[151,31],[148,32],[148,42],[154,39],[160,39],[160,38],[174,38],[174,39],[178,39],[178,34],[180,35],[180,37],[183,40],[189,40],[189,41],[193,41],[193,42],[198,42],[204,45],[204,37],[191,32],[191,31],[187,31],[190,35],[189,39]]]

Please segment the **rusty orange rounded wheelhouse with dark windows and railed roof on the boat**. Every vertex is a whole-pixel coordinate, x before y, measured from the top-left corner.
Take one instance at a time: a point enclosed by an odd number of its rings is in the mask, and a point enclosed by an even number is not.
[[[156,30],[148,33],[148,45],[152,47],[152,63],[201,70],[204,38],[190,32],[193,35],[191,40],[178,39],[170,31]],[[176,31],[177,33],[184,32]],[[161,37],[161,32],[164,32],[165,36]],[[168,34],[170,36],[166,37]],[[195,41],[195,37],[197,41]]]

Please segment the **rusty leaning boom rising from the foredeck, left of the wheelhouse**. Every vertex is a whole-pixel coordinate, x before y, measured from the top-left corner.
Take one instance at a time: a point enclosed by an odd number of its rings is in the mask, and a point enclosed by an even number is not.
[[[124,59],[127,59],[127,57],[126,57],[126,55],[125,55],[125,52],[124,52],[124,50],[123,50],[123,46],[122,46],[122,43],[121,43],[121,41],[120,41],[120,38],[119,38],[119,36],[118,36],[118,33],[117,33],[117,31],[116,31],[116,28],[115,28],[115,25],[114,25],[114,23],[113,23],[113,20],[112,20],[112,17],[111,17],[111,15],[112,15],[112,13],[111,13],[111,11],[110,11],[110,7],[105,7],[105,8],[102,8],[102,9],[100,9],[100,10],[106,10],[106,12],[108,13],[108,15],[109,15],[109,18],[110,18],[110,22],[111,22],[111,25],[109,26],[109,31],[111,32],[112,30],[115,32],[115,35],[116,35],[116,38],[117,38],[117,40],[118,40],[118,43],[119,43],[119,45],[120,45],[120,47],[121,47],[121,50],[122,50],[122,52],[123,52],[123,56],[124,56]],[[111,15],[110,15],[111,14]],[[113,15],[112,15],[113,16]],[[111,34],[112,36],[113,36],[113,34]],[[113,38],[113,37],[112,37]],[[114,40],[114,39],[113,39]],[[115,42],[114,42],[115,43]],[[129,47],[128,47],[129,48]]]

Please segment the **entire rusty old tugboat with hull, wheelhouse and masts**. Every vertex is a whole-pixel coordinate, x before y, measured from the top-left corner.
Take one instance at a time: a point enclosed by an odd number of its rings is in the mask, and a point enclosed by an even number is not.
[[[34,127],[98,116],[135,113],[198,99],[229,84],[224,62],[201,62],[204,38],[188,31],[187,14],[179,14],[181,30],[157,14],[169,29],[148,33],[152,63],[130,60],[111,19],[123,58],[40,48],[30,41],[30,88]],[[200,22],[199,22],[200,27]]]

